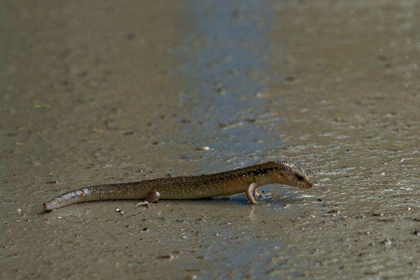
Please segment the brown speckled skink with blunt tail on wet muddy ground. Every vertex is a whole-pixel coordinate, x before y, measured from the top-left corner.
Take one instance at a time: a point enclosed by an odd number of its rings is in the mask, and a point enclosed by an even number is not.
[[[79,188],[45,202],[43,208],[49,211],[69,204],[95,200],[145,200],[137,205],[151,206],[158,199],[194,200],[244,192],[248,200],[255,204],[257,188],[272,183],[299,188],[312,187],[311,179],[300,167],[290,162],[276,161],[209,175]]]

